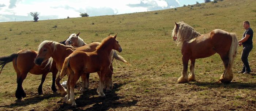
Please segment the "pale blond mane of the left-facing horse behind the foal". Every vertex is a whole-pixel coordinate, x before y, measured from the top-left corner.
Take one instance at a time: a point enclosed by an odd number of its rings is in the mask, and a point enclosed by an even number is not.
[[[61,44],[61,43],[59,43],[59,42],[43,41],[43,42],[40,43],[40,45],[38,46],[37,52],[39,52],[39,51],[44,47],[44,45],[46,45],[46,44],[48,44],[48,43],[51,43],[51,42],[52,42],[51,46],[53,47],[53,52],[56,50],[56,47],[57,47],[58,45],[63,45],[63,44]],[[63,46],[65,46],[65,45],[63,45]],[[72,49],[72,50],[75,50],[75,48],[72,47],[72,46],[66,46],[66,47],[68,47],[68,48],[70,48],[70,49]],[[48,65],[50,65],[50,68],[51,68],[51,67],[52,67],[52,62],[53,62],[53,58],[50,57],[50,58],[48,59],[47,64],[45,65],[45,67],[48,66]]]

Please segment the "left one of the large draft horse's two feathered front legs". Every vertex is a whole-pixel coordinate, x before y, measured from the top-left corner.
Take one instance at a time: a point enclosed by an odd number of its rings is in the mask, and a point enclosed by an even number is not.
[[[183,71],[182,76],[178,79],[178,83],[187,83],[188,82],[188,57],[182,56],[182,63],[183,63]]]

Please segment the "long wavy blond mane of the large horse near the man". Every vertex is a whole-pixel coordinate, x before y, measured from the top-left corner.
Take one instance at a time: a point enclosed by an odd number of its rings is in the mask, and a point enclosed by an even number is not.
[[[196,40],[197,37],[199,37],[201,34],[188,24],[184,22],[179,22],[178,29],[177,26],[175,26],[172,30],[172,35],[175,36],[177,34],[176,43],[178,45],[182,45],[183,42],[187,41],[188,43],[191,43]],[[178,31],[177,31],[178,30]],[[176,32],[177,31],[177,32]]]

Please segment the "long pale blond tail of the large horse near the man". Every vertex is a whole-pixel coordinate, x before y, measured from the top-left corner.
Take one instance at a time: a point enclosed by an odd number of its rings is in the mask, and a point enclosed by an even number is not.
[[[229,33],[229,34],[232,37],[232,43],[229,49],[229,68],[233,68],[234,59],[237,54],[238,41],[237,41],[236,33]]]

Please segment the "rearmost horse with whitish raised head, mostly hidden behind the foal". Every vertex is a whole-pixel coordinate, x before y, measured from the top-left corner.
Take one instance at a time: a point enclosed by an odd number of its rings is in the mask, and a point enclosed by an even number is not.
[[[84,46],[84,45],[87,45],[86,43],[84,43],[83,39],[78,36],[79,34],[80,34],[80,32],[79,32],[78,34],[71,34],[71,35],[68,37],[68,39],[66,40],[66,42],[65,42],[64,45],[71,45],[71,46],[73,46],[73,47],[82,47],[82,46]],[[63,42],[64,42],[64,41],[63,41]],[[63,42],[62,42],[62,43],[63,43]],[[114,50],[113,50],[113,51],[114,51]],[[111,53],[111,54],[112,54],[112,53]],[[131,65],[131,64],[129,64],[127,61],[125,61],[122,56],[118,55],[118,54],[116,53],[116,51],[114,51],[113,54],[112,54],[112,56],[110,56],[110,57],[113,57],[113,58],[115,58],[115,59],[118,60],[118,61],[124,62],[125,64]],[[112,61],[113,61],[113,59],[112,59]],[[113,72],[113,66],[112,66],[112,64],[110,65],[110,69],[111,69],[111,71]],[[113,74],[113,73],[110,72],[108,75],[106,75],[107,79],[106,79],[106,81],[104,82],[104,85],[103,85],[103,86],[104,86],[103,89],[106,89],[106,92],[110,92],[111,89],[113,88],[113,87],[112,87],[112,74]],[[89,77],[89,76],[87,76],[87,77]],[[87,78],[87,80],[89,80],[89,78]]]

